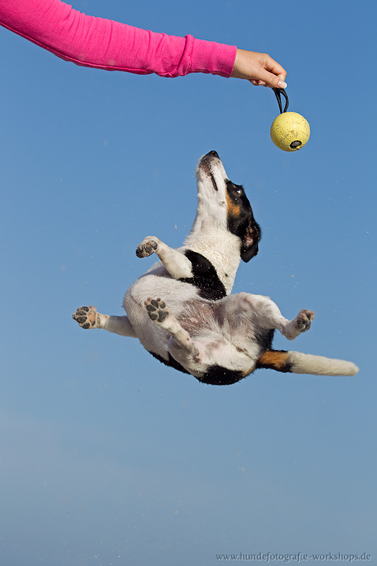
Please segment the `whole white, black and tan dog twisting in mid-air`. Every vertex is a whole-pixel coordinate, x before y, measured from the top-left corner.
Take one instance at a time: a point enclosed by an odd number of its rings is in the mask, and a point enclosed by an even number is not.
[[[354,375],[352,362],[272,349],[274,330],[288,340],[311,327],[313,311],[288,320],[266,296],[231,294],[240,260],[258,253],[260,226],[241,185],[228,179],[216,151],[199,160],[197,214],[184,245],[173,249],[155,236],[137,256],[159,262],[127,290],[127,316],[83,306],[81,328],[103,328],[138,338],[154,357],[203,383],[230,385],[258,368],[295,374]]]

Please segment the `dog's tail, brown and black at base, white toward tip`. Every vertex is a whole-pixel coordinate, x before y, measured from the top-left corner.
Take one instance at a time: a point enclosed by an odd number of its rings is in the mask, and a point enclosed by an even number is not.
[[[344,359],[332,359],[301,352],[268,350],[257,361],[257,368],[276,369],[291,374],[316,376],[354,376],[359,368]]]

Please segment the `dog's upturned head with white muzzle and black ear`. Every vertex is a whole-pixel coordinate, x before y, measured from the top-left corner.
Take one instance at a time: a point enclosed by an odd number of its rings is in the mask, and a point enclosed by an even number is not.
[[[253,209],[242,185],[228,179],[216,151],[209,151],[197,166],[198,213],[202,219],[238,236],[240,257],[250,261],[258,253],[260,226],[255,222]]]

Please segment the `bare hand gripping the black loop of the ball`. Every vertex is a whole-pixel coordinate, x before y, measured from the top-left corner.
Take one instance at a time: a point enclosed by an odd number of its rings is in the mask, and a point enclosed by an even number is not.
[[[238,49],[231,76],[246,79],[255,86],[286,88],[286,71],[265,53]]]

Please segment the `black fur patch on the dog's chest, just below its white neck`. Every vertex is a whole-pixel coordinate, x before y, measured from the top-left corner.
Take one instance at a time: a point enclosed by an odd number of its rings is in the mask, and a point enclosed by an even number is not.
[[[199,289],[199,296],[210,301],[217,301],[226,296],[224,284],[207,258],[201,253],[186,250],[185,256],[192,263],[192,277],[181,277],[178,281],[190,283]]]

